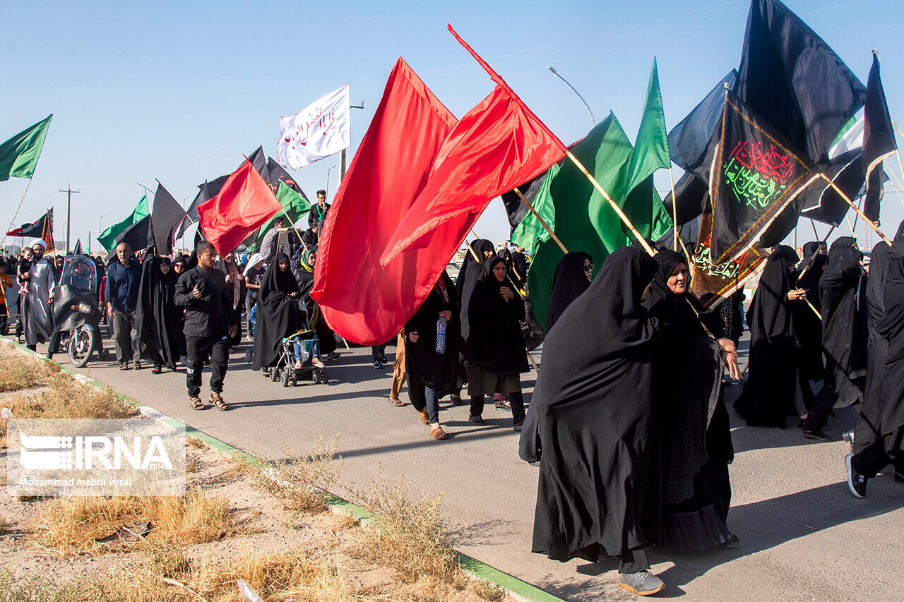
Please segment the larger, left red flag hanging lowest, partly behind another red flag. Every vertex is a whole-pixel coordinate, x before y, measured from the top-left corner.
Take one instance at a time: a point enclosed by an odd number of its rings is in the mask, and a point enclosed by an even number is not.
[[[380,256],[427,181],[456,119],[399,59],[339,186],[320,238],[311,296],[327,324],[355,343],[386,343],[427,298],[452,254]],[[454,238],[441,227],[436,236]],[[459,239],[460,240],[460,239]]]

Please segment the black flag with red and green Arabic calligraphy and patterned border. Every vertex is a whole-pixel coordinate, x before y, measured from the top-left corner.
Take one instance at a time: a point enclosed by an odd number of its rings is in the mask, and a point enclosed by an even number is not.
[[[726,92],[710,171],[713,263],[738,259],[759,240],[806,184],[815,165]]]

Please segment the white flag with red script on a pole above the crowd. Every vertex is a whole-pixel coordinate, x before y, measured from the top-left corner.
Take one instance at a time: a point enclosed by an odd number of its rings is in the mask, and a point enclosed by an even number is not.
[[[348,84],[308,105],[297,115],[279,118],[277,160],[301,169],[349,146]]]

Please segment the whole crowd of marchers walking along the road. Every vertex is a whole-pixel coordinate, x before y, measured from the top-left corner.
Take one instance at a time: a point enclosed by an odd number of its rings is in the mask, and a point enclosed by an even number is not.
[[[219,257],[208,242],[190,256],[160,257],[120,243],[95,258],[99,303],[112,328],[121,370],[185,366],[193,409],[204,409],[202,370],[210,364],[210,404],[222,395],[229,353],[243,329],[246,360],[272,369],[286,349],[296,368],[323,368],[336,337],[309,296],[318,231],[329,205],[318,194],[303,234],[276,220],[259,252]],[[281,237],[281,234],[286,234]],[[487,397],[511,410],[519,453],[540,467],[532,550],[554,560],[620,561],[621,586],[640,595],[664,584],[645,550],[707,550],[739,543],[728,527],[733,460],[725,385],[738,366],[743,292],[715,309],[690,293],[692,262],[672,249],[654,256],[617,249],[594,277],[594,258],[566,254],[555,270],[538,372],[525,411],[529,372],[525,309],[528,259],[490,240],[467,243],[457,277],[439,275],[395,338],[389,400],[411,406],[429,436],[447,438],[439,400],[462,405],[484,425]],[[56,268],[34,240],[6,270],[19,286],[26,344],[51,341]],[[10,278],[11,279],[11,278]],[[9,285],[7,285],[9,286]],[[244,314],[244,319],[242,319]],[[856,241],[772,250],[746,315],[747,381],[734,409],[750,426],[785,428],[830,440],[833,409],[855,405],[845,435],[852,494],[893,466],[904,481],[904,224],[867,265]],[[375,367],[386,344],[372,348]],[[308,363],[309,362],[309,363]]]

